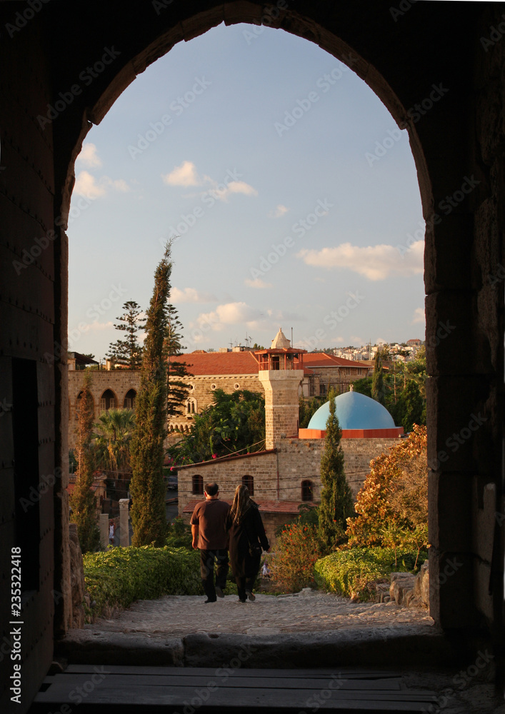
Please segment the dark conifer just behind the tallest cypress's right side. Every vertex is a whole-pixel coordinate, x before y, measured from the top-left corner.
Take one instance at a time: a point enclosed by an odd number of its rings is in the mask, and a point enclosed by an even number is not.
[[[179,313],[169,303],[166,306],[166,336],[164,343],[168,371],[167,415],[169,418],[183,411],[182,405],[186,402],[191,391],[189,384],[183,381],[184,378],[191,376],[191,373],[187,370],[186,362],[173,358],[186,349],[181,345],[182,329]]]

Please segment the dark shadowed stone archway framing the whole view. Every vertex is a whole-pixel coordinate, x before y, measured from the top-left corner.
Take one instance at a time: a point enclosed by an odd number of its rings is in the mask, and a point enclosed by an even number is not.
[[[504,4],[489,2],[0,5],[0,528],[2,573],[10,572],[11,548],[21,547],[26,574],[21,710],[46,674],[54,638],[71,623],[62,466],[69,403],[65,229],[74,161],[92,124],[139,73],[177,42],[222,22],[271,26],[318,44],[364,79],[409,131],[426,220],[431,615],[462,643],[488,638],[500,665],[503,17]],[[444,101],[436,101],[441,93]],[[9,578],[1,588],[6,643]],[[11,660],[3,656],[0,666],[6,682]],[[8,700],[6,690],[2,698]]]

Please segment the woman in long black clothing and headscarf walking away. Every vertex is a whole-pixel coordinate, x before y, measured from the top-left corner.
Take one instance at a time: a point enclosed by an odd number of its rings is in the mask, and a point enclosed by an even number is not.
[[[259,572],[261,548],[269,550],[258,506],[249,496],[247,486],[237,486],[231,511],[226,521],[230,536],[230,564],[239,591],[239,600],[255,600],[254,580]]]

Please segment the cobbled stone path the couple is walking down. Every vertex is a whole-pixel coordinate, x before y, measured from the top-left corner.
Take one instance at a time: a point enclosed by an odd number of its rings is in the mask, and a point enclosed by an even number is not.
[[[203,596],[166,595],[140,600],[113,619],[86,625],[86,630],[162,638],[210,632],[269,635],[431,624],[427,610],[399,608],[395,603],[354,603],[306,588],[294,595],[256,595],[254,603],[244,604],[236,595],[207,605]]]

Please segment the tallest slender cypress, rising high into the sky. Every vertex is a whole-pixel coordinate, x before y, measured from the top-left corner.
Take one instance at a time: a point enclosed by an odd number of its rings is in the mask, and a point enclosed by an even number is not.
[[[154,273],[154,292],[147,311],[141,381],[135,406],[136,426],[130,447],[132,545],[163,545],[166,535],[163,442],[166,436],[167,369],[164,341],[171,271],[171,243],[167,243],[164,257]]]

